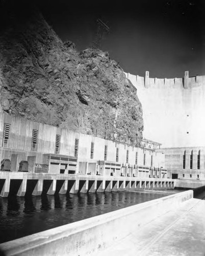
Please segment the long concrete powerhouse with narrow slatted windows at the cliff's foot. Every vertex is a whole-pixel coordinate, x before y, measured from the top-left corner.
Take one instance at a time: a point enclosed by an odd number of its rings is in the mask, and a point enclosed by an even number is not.
[[[0,143],[10,172],[170,178],[151,140],[135,147],[0,113]]]

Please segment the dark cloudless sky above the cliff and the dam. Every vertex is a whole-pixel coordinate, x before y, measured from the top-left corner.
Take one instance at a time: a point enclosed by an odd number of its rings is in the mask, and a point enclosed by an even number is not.
[[[102,50],[125,72],[150,77],[205,75],[203,0],[38,0],[49,24],[78,50],[94,40],[96,19],[110,28]],[[135,4],[135,5],[134,5]]]

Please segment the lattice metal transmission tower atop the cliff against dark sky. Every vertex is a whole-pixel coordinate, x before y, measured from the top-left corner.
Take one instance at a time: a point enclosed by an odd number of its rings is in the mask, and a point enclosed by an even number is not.
[[[106,34],[110,32],[110,28],[102,22],[101,19],[96,20],[97,30],[95,32],[95,39],[92,43],[92,49],[101,49],[101,42],[105,38]]]

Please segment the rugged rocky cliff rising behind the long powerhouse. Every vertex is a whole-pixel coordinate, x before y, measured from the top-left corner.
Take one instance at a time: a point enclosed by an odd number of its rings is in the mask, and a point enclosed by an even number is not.
[[[142,139],[136,89],[107,52],[78,52],[37,12],[10,11],[0,33],[0,111],[107,139]]]

